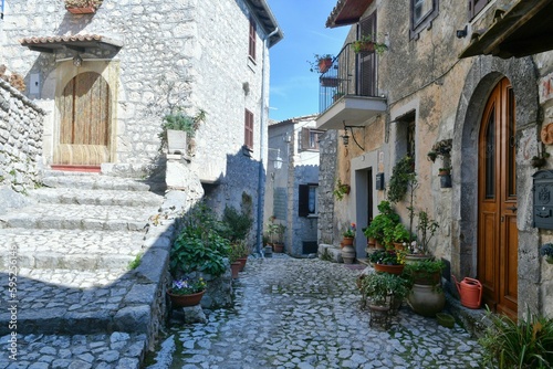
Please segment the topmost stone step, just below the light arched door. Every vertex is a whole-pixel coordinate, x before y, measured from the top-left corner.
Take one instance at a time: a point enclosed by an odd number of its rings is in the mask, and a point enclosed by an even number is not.
[[[149,184],[132,178],[103,176],[100,173],[67,173],[50,171],[42,184],[53,188],[77,188],[81,190],[149,191]]]

